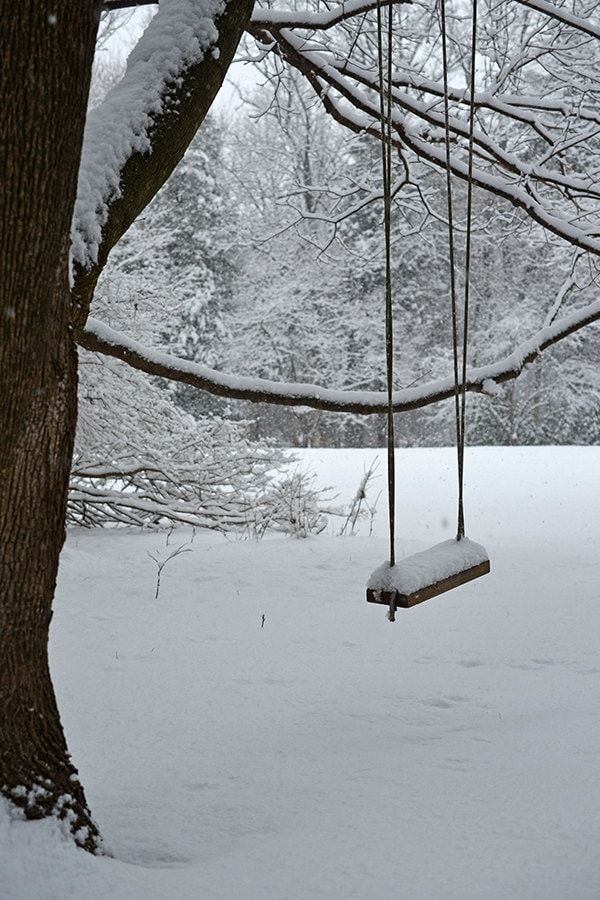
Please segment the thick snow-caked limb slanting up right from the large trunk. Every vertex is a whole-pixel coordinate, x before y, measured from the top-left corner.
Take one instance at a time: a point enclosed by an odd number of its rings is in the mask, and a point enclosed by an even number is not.
[[[122,80],[90,113],[73,224],[76,331],[111,249],[162,187],[204,120],[253,5],[254,0],[214,0],[211,20],[203,4],[199,10],[194,3],[162,0]]]

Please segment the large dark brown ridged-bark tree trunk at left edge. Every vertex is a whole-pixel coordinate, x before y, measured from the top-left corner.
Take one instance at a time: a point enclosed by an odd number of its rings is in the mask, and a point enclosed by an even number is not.
[[[96,0],[0,0],[0,790],[92,851],[47,648],[77,416],[68,248],[98,13]]]

